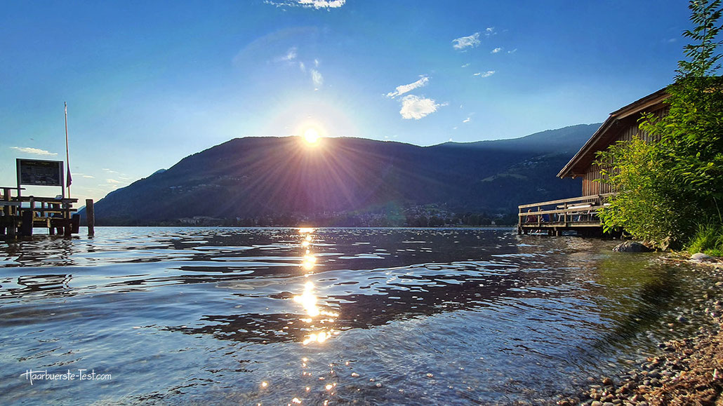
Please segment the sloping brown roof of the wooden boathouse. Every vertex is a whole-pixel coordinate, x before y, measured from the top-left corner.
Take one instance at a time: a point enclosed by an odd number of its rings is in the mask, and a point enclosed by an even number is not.
[[[560,173],[557,173],[557,176],[559,178],[583,176],[594,162],[595,152],[606,149],[618,139],[622,131],[628,129],[630,125],[636,124],[640,113],[650,113],[662,107],[663,101],[670,96],[666,89],[667,87],[664,87],[610,113],[602,126],[595,131],[595,134],[592,134],[592,137],[580,148],[570,162],[560,170]]]

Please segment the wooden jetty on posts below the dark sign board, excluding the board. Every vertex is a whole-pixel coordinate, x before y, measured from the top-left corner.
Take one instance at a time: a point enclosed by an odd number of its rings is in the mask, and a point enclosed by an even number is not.
[[[0,196],[0,238],[32,236],[33,228],[47,228],[51,236],[78,233],[80,215],[73,204],[78,199],[19,196],[19,187],[2,187]],[[12,196],[12,191],[16,191]]]

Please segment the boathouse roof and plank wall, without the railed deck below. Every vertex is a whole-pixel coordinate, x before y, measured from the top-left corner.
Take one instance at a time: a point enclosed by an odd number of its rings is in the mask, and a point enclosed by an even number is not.
[[[656,116],[663,116],[669,110],[669,106],[663,103],[669,94],[665,89],[658,90],[647,95],[617,111],[610,113],[610,116],[595,131],[578,153],[565,165],[565,168],[557,174],[560,178],[583,178],[583,189],[581,196],[596,194],[607,194],[613,192],[609,183],[595,181],[602,178],[600,167],[593,165],[596,160],[596,152],[606,150],[611,144],[618,141],[630,141],[638,135],[643,139],[650,139],[649,135],[638,128],[639,119],[643,114],[654,113]]]

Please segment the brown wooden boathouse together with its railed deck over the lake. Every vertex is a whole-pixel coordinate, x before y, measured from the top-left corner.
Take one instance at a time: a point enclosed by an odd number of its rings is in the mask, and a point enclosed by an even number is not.
[[[602,181],[601,168],[595,165],[596,152],[606,150],[618,141],[631,141],[636,136],[654,141],[639,129],[638,122],[646,113],[664,116],[668,111],[664,100],[668,97],[665,89],[658,90],[610,113],[602,126],[557,174],[559,178],[582,178],[581,196],[518,206],[518,232],[560,236],[565,231],[574,230],[582,236],[602,236],[597,210],[615,191],[609,183]]]

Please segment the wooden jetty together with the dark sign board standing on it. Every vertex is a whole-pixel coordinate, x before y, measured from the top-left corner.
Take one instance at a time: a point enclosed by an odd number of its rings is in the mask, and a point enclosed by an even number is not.
[[[0,186],[0,238],[32,236],[33,228],[47,228],[48,234],[71,236],[78,233],[80,216],[65,197],[63,161],[16,160],[17,186]],[[55,197],[22,196],[22,186],[60,186]]]

